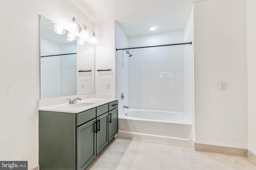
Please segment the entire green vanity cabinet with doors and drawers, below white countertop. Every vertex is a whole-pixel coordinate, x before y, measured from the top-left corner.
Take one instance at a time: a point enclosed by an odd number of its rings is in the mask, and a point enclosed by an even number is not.
[[[118,133],[118,101],[80,113],[39,111],[40,170],[84,170]]]

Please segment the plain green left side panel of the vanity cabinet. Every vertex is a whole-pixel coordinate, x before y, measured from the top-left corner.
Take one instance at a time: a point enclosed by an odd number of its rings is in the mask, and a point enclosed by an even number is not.
[[[76,170],[76,114],[39,111],[40,170]]]

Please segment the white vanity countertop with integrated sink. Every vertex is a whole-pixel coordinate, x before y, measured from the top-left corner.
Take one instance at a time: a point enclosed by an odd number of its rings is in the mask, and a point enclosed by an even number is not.
[[[56,112],[65,112],[65,113],[80,113],[82,111],[86,111],[92,109],[97,106],[101,106],[103,104],[107,104],[109,102],[113,102],[118,99],[113,98],[90,98],[85,100],[78,100],[77,104],[59,104],[54,106],[42,107],[39,108],[40,111],[56,111]],[[82,103],[87,103],[89,106],[82,106]]]

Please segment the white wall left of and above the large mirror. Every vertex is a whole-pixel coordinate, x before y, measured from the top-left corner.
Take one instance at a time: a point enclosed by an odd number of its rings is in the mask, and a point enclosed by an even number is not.
[[[38,165],[39,14],[56,23],[75,16],[94,29],[69,0],[0,2],[0,160],[28,160],[28,170]]]

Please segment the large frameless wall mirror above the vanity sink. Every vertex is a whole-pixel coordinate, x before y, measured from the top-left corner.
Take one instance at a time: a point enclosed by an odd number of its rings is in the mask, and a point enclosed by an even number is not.
[[[94,45],[68,41],[68,31],[40,16],[40,99],[94,93]]]

